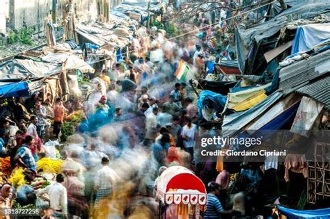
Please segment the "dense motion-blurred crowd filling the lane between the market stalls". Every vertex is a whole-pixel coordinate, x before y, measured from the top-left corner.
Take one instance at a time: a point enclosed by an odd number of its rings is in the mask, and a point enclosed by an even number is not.
[[[16,199],[22,206],[37,202],[45,218],[155,218],[159,208],[152,191],[159,168],[183,165],[196,171],[194,147],[198,129],[203,129],[198,127],[196,94],[173,73],[184,58],[196,74],[203,74],[205,44],[189,48],[167,41],[163,31],[150,35],[150,47],[133,45],[136,53],[102,70],[85,100],[58,97],[51,106],[39,99],[40,93],[24,102],[8,99],[10,115],[3,117],[0,129],[1,154],[10,160],[7,175],[1,176],[3,208],[12,208]],[[54,183],[36,192],[19,189],[10,172],[23,169],[26,184],[20,188],[42,176],[37,165],[49,154],[45,143],[58,143],[65,120],[75,111],[83,111],[84,120],[57,147],[61,167],[47,176]],[[211,183],[210,194],[221,192],[226,200],[229,174],[223,170],[217,177],[214,170],[199,171],[205,184]],[[210,217],[217,217],[225,203],[214,195],[210,200],[216,206]]]

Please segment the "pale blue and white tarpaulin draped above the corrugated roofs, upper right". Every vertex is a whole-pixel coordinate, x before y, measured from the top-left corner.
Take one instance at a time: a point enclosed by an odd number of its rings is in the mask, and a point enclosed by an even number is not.
[[[300,26],[292,44],[291,54],[306,52],[318,44],[330,41],[330,24],[308,24]]]

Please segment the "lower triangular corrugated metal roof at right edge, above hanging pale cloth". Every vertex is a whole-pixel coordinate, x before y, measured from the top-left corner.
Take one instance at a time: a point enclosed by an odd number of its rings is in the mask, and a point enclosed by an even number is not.
[[[330,109],[330,76],[299,88],[297,92],[321,102],[325,108]]]

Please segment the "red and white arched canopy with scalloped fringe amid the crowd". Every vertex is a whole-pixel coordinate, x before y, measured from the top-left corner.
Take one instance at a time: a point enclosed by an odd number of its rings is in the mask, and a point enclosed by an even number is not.
[[[175,211],[182,218],[199,218],[206,210],[206,189],[203,181],[193,172],[179,165],[164,170],[156,181],[156,197],[167,207],[175,205]],[[160,203],[159,203],[160,204]],[[160,214],[159,214],[160,215]],[[160,217],[160,216],[159,216]],[[166,211],[164,213],[166,218]]]

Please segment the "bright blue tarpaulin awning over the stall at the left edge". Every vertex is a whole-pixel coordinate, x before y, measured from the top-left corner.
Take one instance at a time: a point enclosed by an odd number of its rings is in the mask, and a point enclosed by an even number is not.
[[[0,97],[26,97],[30,95],[28,83],[26,81],[16,83],[6,83],[0,86]]]

